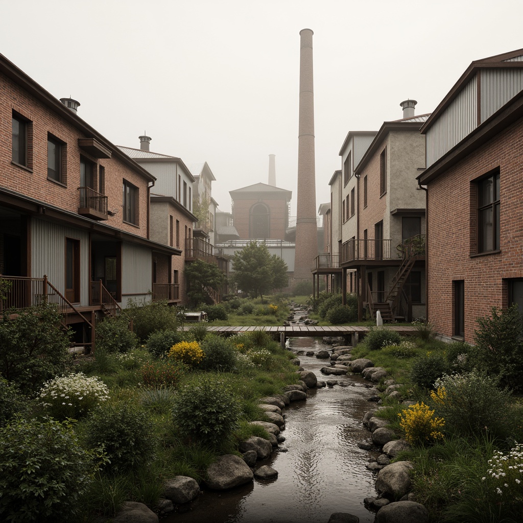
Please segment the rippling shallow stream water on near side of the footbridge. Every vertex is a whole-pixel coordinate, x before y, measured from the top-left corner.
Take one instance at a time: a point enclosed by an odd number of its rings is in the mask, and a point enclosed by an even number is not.
[[[291,338],[290,348],[329,348],[320,339]],[[369,433],[362,426],[363,414],[372,407],[372,395],[359,377],[324,376],[320,369],[328,360],[299,355],[301,366],[319,380],[335,379],[333,387],[310,389],[306,401],[285,409],[286,441],[258,461],[278,471],[272,481],[258,481],[230,492],[203,490],[187,506],[163,519],[165,523],[327,523],[334,512],[347,512],[372,523],[374,514],[363,498],[375,497],[374,476],[366,470],[369,452],[357,447]]]

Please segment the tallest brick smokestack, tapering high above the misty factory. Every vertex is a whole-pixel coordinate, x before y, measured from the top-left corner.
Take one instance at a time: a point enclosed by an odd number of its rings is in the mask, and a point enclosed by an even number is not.
[[[314,170],[314,94],[311,29],[300,31],[300,120],[294,279],[310,279],[318,254]]]

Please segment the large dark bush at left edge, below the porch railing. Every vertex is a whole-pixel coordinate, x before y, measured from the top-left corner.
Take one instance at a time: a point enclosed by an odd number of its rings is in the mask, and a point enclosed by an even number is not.
[[[52,305],[38,305],[10,320],[0,320],[0,374],[22,393],[38,390],[42,383],[65,371],[70,361],[70,331]]]

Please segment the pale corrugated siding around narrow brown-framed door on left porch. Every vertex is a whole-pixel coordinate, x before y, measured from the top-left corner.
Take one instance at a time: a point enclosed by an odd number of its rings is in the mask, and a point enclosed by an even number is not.
[[[80,304],[89,304],[89,235],[71,227],[31,220],[31,276],[48,280],[65,294],[65,238],[80,241]]]

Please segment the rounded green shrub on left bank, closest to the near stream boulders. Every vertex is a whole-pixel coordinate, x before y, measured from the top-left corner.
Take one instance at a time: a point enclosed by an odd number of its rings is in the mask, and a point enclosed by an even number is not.
[[[195,376],[175,397],[173,421],[180,435],[212,447],[231,436],[240,415],[232,386],[220,376]]]

